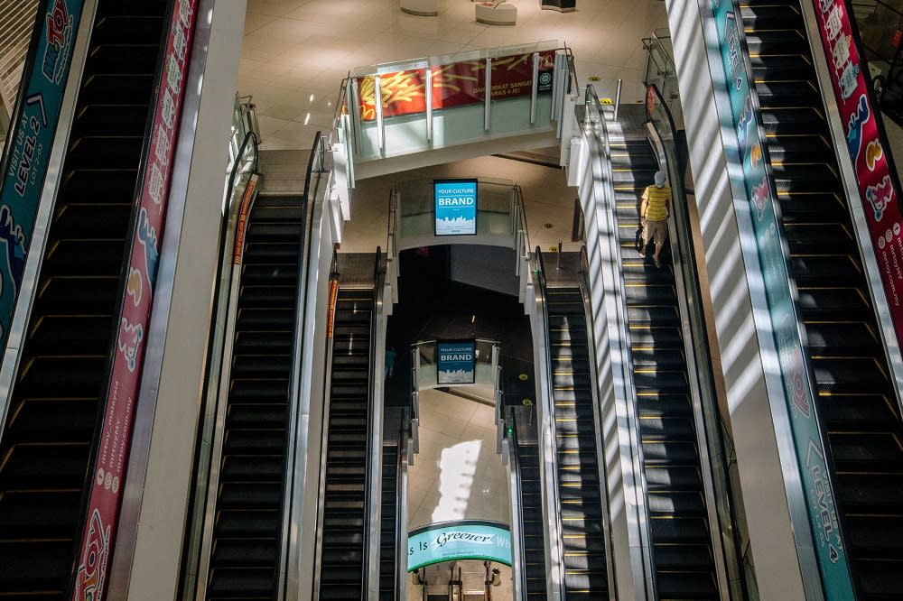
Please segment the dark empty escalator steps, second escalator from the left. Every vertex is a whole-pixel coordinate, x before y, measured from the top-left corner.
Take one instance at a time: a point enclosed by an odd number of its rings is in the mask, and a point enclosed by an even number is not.
[[[208,599],[272,599],[303,199],[260,196],[247,219],[207,580]]]

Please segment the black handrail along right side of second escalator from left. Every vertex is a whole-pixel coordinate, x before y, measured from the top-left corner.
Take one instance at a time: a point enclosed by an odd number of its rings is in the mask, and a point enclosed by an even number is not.
[[[316,192],[320,188],[321,178],[319,177],[323,163],[322,160],[317,162],[318,151],[323,147],[325,143],[325,138],[323,137],[322,132],[317,131],[313,136],[313,146],[310,156],[307,161],[307,169],[304,172],[304,190],[302,197],[302,227],[301,227],[301,236],[299,240],[299,255],[298,255],[298,275],[297,281],[295,284],[295,310],[294,310],[294,332],[295,336],[293,338],[292,343],[292,373],[289,378],[289,408],[288,408],[288,419],[286,421],[285,428],[285,452],[284,452],[284,470],[283,470],[283,514],[282,514],[282,524],[280,529],[280,542],[279,542],[279,558],[277,569],[279,572],[279,577],[276,578],[277,588],[276,588],[276,598],[283,599],[285,597],[290,597],[291,595],[286,590],[286,587],[289,586],[289,583],[293,579],[293,562],[290,561],[293,546],[297,547],[297,544],[294,544],[293,537],[295,537],[294,541],[297,541],[297,538],[301,536],[300,532],[297,532],[298,529],[293,528],[293,523],[300,525],[301,518],[300,512],[301,508],[298,505],[301,503],[299,499],[294,498],[294,475],[296,471],[296,465],[298,462],[296,448],[297,445],[295,441],[298,439],[298,431],[301,427],[300,415],[301,415],[301,397],[302,397],[302,381],[303,381],[303,364],[311,363],[307,357],[303,356],[303,333],[307,331],[307,309],[311,305],[312,297],[315,298],[315,291],[311,291],[311,286],[308,285],[308,275],[311,270],[310,266],[310,256],[311,256],[311,241],[313,236],[313,207],[315,205],[316,196],[312,192]],[[317,187],[315,190],[312,190],[312,178],[316,172],[317,175]],[[308,400],[309,403],[309,400]],[[304,434],[304,439],[309,439],[309,435]],[[325,449],[324,449],[325,450]],[[318,525],[319,527],[319,525]]]

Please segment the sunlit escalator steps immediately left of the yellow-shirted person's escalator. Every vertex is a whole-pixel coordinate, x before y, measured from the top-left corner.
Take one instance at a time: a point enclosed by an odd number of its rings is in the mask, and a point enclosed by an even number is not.
[[[546,288],[561,506],[564,594],[609,598],[602,482],[592,408],[586,317],[579,287]]]

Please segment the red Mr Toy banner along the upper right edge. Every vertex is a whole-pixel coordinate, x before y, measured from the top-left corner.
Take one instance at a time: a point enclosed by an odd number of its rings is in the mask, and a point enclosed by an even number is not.
[[[897,340],[903,347],[903,237],[898,193],[890,175],[887,154],[871,105],[865,63],[852,36],[843,0],[813,0],[822,36],[824,57],[831,73],[834,98],[840,110],[847,150],[856,171],[862,207],[869,223],[871,244],[881,270]]]

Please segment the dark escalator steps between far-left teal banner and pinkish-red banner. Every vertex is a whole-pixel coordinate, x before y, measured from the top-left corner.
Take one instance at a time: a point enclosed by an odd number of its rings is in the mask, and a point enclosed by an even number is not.
[[[61,599],[72,584],[168,4],[101,0],[93,24],[0,441],[11,598]]]

